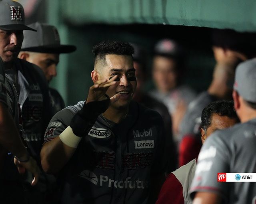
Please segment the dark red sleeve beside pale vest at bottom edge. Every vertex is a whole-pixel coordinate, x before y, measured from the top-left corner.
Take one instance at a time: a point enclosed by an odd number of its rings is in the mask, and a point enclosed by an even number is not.
[[[182,184],[173,173],[166,178],[156,204],[184,204]]]

